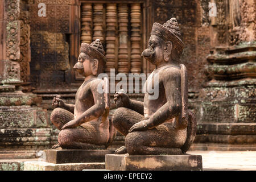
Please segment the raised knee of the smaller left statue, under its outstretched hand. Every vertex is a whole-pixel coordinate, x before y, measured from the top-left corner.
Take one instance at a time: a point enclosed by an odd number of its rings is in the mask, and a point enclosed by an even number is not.
[[[51,113],[51,122],[57,129],[61,130],[61,127],[65,125],[65,123],[74,119],[74,114],[69,112],[68,110],[57,107]]]

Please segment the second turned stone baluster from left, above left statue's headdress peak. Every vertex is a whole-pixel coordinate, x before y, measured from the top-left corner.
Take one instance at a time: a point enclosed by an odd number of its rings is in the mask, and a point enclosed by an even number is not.
[[[104,42],[103,37],[103,4],[95,3],[93,5],[93,41],[100,39]]]

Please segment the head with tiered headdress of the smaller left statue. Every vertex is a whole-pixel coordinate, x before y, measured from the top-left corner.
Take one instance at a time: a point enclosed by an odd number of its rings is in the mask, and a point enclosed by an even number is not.
[[[80,48],[80,55],[77,63],[73,68],[83,76],[94,75],[104,72],[105,67],[105,51],[100,42],[100,39],[96,39],[91,44],[82,43]]]

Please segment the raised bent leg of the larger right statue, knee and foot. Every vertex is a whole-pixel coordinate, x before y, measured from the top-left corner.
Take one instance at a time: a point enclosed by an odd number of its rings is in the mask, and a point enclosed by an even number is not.
[[[122,135],[126,136],[129,133],[131,126],[135,123],[142,121],[143,115],[137,113],[134,110],[127,109],[125,107],[119,107],[115,110],[112,116],[112,123],[121,133]],[[126,154],[127,150],[125,146],[122,146],[115,150],[115,154]]]

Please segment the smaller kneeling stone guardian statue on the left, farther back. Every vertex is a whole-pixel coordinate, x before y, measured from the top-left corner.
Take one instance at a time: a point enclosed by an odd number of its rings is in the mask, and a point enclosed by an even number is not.
[[[57,107],[51,113],[51,122],[61,130],[58,144],[52,148],[105,149],[115,137],[109,121],[109,94],[98,92],[104,81],[97,78],[104,72],[105,52],[99,39],[91,44],[82,43],[81,53],[74,68],[85,79],[77,90],[75,105],[66,104],[60,97],[53,98]]]

